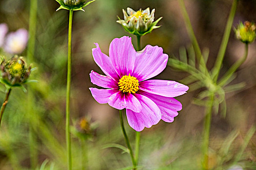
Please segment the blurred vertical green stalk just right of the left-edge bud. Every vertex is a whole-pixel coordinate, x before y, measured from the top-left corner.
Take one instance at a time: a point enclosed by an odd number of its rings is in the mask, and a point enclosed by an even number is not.
[[[35,41],[36,41],[36,25],[37,25],[37,1],[38,0],[31,0],[30,1],[30,12],[29,12],[29,39],[28,39],[28,47],[27,47],[27,59],[28,62],[32,63],[35,53]],[[29,87],[28,87],[29,88]],[[32,101],[33,101],[33,93],[32,88],[29,88],[28,94],[28,114],[36,114],[32,108]],[[29,118],[31,118],[29,116]],[[36,133],[33,129],[32,119],[29,119],[29,153],[30,153],[30,164],[31,169],[36,169],[38,163],[38,153],[37,153],[37,142],[36,142]]]

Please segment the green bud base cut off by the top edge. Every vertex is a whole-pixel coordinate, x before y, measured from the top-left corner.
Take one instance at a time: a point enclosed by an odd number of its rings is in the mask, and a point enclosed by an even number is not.
[[[56,10],[66,9],[66,10],[73,10],[73,11],[84,11],[82,8],[90,4],[95,0],[91,0],[85,3],[86,0],[56,0],[61,6]]]

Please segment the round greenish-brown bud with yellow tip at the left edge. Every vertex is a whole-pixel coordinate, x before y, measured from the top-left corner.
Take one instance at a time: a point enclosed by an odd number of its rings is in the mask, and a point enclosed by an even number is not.
[[[8,86],[21,86],[30,75],[31,67],[27,67],[22,57],[15,55],[11,59],[3,61],[0,64],[1,83]]]

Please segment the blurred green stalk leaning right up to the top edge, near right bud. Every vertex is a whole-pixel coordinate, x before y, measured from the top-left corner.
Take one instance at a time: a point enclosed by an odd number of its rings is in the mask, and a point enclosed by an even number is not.
[[[219,52],[217,55],[217,59],[215,61],[214,67],[213,67],[213,71],[212,71],[212,75],[213,75],[213,82],[216,82],[218,79],[218,75],[219,75],[219,71],[223,62],[223,58],[227,49],[227,45],[228,45],[228,41],[229,41],[229,36],[230,36],[230,32],[231,32],[231,28],[232,28],[232,24],[233,24],[233,20],[235,17],[235,11],[236,11],[236,6],[237,6],[237,1],[238,0],[233,0],[232,3],[232,7],[231,7],[231,11],[230,11],[230,15],[228,18],[228,22],[226,25],[226,29],[222,38],[222,42],[219,48]]]

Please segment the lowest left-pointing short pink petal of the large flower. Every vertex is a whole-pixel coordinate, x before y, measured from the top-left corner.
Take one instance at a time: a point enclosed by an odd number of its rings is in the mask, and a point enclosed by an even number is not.
[[[92,97],[99,103],[107,103],[109,97],[114,93],[117,93],[117,89],[98,89],[98,88],[89,88],[92,94]]]

